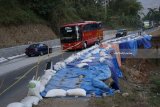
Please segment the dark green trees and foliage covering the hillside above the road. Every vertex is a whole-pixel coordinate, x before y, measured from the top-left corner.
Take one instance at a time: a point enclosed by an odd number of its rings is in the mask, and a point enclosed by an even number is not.
[[[0,24],[47,22],[58,32],[60,25],[82,20],[101,20],[109,26],[139,24],[137,0],[0,0]],[[113,23],[112,23],[113,22]]]

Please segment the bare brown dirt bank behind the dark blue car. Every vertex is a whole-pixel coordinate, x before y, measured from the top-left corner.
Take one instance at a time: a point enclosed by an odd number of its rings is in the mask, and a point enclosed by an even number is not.
[[[0,27],[0,48],[24,45],[29,42],[41,42],[55,38],[55,33],[46,25],[37,24]]]

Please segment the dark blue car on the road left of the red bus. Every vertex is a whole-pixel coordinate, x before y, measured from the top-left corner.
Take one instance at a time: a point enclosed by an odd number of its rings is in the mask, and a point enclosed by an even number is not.
[[[25,54],[27,56],[39,56],[39,55],[44,55],[52,52],[52,49],[49,48],[46,44],[43,43],[37,43],[37,44],[32,44],[28,48],[26,48]]]

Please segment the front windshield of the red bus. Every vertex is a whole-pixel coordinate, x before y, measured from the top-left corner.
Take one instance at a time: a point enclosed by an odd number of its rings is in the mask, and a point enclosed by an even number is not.
[[[61,42],[69,43],[80,40],[79,27],[78,26],[68,26],[62,27],[61,32]]]

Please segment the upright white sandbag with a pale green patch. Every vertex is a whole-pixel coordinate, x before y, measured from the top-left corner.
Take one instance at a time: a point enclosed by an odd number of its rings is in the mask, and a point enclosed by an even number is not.
[[[34,80],[34,78],[28,84],[28,96],[37,96],[39,99],[42,99],[40,95],[41,92],[41,83],[39,80]]]

